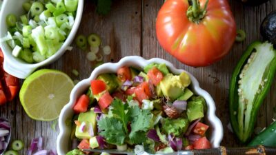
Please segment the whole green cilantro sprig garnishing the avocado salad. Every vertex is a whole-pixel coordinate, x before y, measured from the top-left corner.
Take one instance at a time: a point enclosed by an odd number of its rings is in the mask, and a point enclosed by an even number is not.
[[[121,100],[115,99],[112,104],[112,116],[98,122],[101,136],[108,143],[123,145],[141,144],[146,141],[146,132],[150,129],[152,114],[150,110],[141,110],[137,105],[129,107]],[[128,129],[130,125],[131,129]]]

